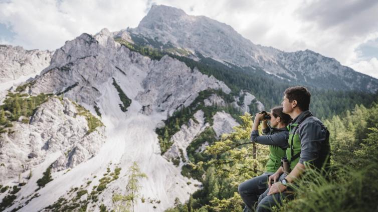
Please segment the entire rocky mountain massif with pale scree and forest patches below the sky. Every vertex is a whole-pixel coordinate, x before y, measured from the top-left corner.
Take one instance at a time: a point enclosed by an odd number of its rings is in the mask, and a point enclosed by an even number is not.
[[[204,170],[190,163],[211,157],[205,147],[240,114],[278,104],[285,87],[330,88],[315,105],[333,89],[344,98],[358,91],[353,106],[370,102],[378,84],[316,52],[256,45],[224,23],[162,5],[135,29],[83,33],[54,52],[2,49],[5,211],[110,210],[134,162],[147,176],[135,211],[164,211],[203,188]]]

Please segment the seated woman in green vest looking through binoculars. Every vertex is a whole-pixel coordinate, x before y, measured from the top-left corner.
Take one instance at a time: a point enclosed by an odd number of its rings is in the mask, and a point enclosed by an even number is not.
[[[259,112],[255,115],[252,126],[251,140],[260,144],[269,145],[269,160],[266,164],[265,172],[242,182],[239,187],[239,194],[246,204],[245,211],[254,211],[259,195],[268,188],[268,178],[281,166],[281,157],[286,156],[286,148],[288,145],[289,130],[286,128],[290,122],[290,115],[282,112],[282,106],[276,106],[269,112]],[[270,116],[269,128],[267,119]],[[263,133],[267,135],[259,135],[259,122],[262,122]]]

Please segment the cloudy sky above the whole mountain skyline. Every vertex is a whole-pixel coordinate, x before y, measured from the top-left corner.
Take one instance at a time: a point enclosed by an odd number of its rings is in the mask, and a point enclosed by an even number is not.
[[[0,44],[54,50],[136,27],[153,4],[231,25],[255,44],[310,49],[378,78],[378,0],[0,0]]]

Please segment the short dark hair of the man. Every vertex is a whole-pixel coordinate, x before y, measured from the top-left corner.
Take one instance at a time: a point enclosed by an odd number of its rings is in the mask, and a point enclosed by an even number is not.
[[[302,86],[295,86],[295,87],[288,87],[284,94],[286,98],[289,99],[289,102],[293,100],[297,100],[297,105],[302,111],[306,111],[309,109],[310,101],[311,101],[311,93],[308,91],[306,87]]]

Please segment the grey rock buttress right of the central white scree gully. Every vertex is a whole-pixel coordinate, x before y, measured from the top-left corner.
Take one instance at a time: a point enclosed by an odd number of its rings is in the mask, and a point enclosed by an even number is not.
[[[151,105],[155,111],[167,110],[169,115],[178,106],[190,105],[201,90],[214,88],[226,93],[231,91],[214,76],[204,75],[197,68],[191,70],[185,63],[169,56],[161,58],[142,83],[147,92],[138,93],[136,99],[143,105]],[[186,94],[182,95],[183,93]]]

